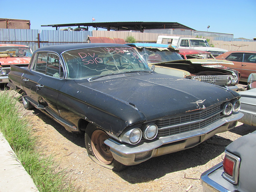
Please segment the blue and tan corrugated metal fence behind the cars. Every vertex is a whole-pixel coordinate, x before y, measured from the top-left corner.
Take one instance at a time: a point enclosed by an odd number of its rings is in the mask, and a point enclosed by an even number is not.
[[[88,36],[110,37],[126,39],[127,36],[134,36],[137,42],[156,42],[159,35],[181,36],[179,34],[160,34],[160,33],[140,33],[124,31],[60,31],[60,30],[29,30],[29,29],[0,29],[0,44],[24,44],[30,46],[32,50],[39,47],[70,44],[87,43]],[[182,37],[196,37],[182,35]],[[248,41],[233,38],[207,37],[210,43],[217,48],[232,50],[253,50],[256,51],[256,41]]]

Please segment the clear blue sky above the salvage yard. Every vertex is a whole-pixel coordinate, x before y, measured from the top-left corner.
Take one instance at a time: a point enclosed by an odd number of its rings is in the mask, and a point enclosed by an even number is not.
[[[256,38],[256,0],[1,0],[0,18],[49,24],[92,22],[178,22],[198,31]],[[90,28],[89,30],[95,30]]]

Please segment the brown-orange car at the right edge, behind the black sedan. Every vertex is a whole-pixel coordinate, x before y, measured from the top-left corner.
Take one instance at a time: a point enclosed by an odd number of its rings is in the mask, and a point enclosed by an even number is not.
[[[222,65],[240,72],[240,81],[247,82],[248,76],[256,73],[256,51],[228,51],[216,58],[232,61],[234,66]]]

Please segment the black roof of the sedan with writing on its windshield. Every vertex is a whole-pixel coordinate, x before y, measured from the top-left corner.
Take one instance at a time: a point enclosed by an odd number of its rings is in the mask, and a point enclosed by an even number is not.
[[[78,43],[78,44],[63,44],[63,45],[52,45],[38,48],[34,53],[39,51],[54,51],[59,54],[68,50],[82,49],[82,48],[93,48],[93,47],[128,47],[130,46],[123,44],[112,44],[112,43]]]

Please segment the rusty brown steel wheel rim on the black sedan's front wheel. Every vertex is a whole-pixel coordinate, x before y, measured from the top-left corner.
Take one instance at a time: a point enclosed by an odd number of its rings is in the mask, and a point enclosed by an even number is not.
[[[106,165],[110,164],[114,159],[109,146],[104,144],[104,141],[108,138],[109,136],[100,129],[95,130],[91,138],[92,152],[100,162]]]

